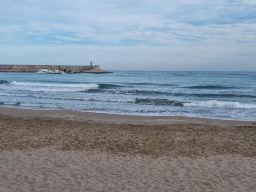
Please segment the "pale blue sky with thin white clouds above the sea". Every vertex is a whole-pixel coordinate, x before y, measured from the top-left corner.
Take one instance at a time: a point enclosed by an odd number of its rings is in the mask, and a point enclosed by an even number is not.
[[[256,0],[2,0],[0,63],[256,71]]]

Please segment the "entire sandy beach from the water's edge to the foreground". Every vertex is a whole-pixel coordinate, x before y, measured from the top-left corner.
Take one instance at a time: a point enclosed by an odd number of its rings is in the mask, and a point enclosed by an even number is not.
[[[256,122],[0,108],[0,191],[255,191]]]

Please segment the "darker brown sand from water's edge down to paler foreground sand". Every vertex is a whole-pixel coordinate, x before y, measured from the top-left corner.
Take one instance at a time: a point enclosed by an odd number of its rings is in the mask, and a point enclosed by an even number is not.
[[[0,108],[0,152],[53,147],[125,156],[252,157],[255,136],[256,122],[248,121]]]

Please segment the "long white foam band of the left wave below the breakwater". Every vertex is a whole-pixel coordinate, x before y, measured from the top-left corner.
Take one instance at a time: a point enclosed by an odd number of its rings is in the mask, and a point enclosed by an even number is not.
[[[37,86],[37,87],[53,87],[53,88],[98,88],[95,83],[38,83],[38,82],[19,82],[12,81],[10,84],[14,86]]]

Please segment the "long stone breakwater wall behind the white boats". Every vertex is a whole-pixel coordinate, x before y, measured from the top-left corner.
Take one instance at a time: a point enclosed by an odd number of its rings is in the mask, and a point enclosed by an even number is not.
[[[66,65],[0,65],[0,72],[37,72],[40,69],[65,70],[73,73],[108,73],[99,66],[66,66]]]

